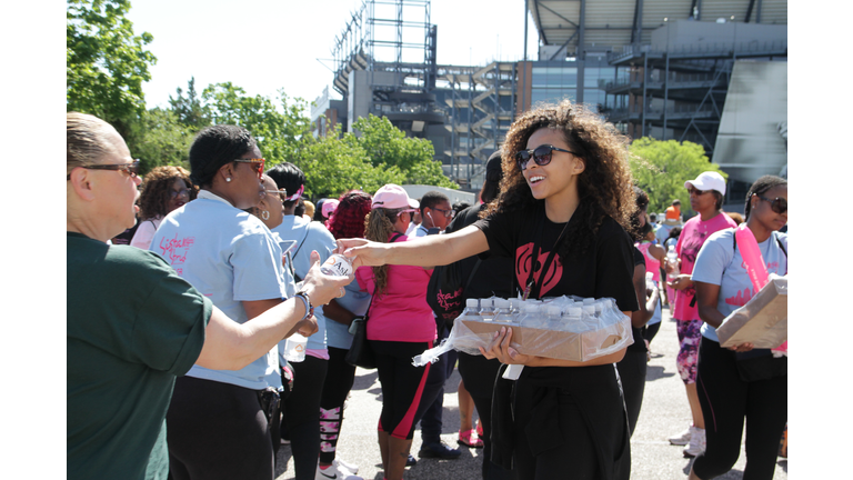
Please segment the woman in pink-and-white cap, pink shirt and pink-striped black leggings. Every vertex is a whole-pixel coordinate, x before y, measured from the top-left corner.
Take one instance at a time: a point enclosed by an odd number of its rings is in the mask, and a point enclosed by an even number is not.
[[[419,203],[402,187],[387,184],[377,191],[364,226],[364,237],[378,244],[405,244],[404,234]],[[421,239],[419,239],[421,240]],[[362,240],[367,241],[367,240]],[[359,268],[355,279],[372,296],[368,340],[375,353],[382,386],[379,450],[384,478],[401,480],[412,446],[418,406],[430,366],[414,367],[412,358],[432,348],[435,319],[426,303],[432,270],[408,266]]]

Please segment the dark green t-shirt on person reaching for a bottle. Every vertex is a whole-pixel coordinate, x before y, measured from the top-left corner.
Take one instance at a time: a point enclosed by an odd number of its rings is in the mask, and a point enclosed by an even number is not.
[[[212,303],[157,253],[67,240],[68,478],[165,479],[165,412]]]

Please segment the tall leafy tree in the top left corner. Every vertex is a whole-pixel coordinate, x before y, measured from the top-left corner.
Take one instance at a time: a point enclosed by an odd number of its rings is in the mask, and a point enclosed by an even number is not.
[[[153,37],[133,33],[128,0],[68,0],[66,23],[67,111],[91,113],[122,136],[144,111],[142,82],[157,58],[144,46]]]

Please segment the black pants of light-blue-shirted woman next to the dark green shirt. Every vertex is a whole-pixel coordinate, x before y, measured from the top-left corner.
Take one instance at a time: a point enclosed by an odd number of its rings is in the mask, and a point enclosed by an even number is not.
[[[257,390],[179,377],[165,424],[172,479],[272,480],[270,426]]]

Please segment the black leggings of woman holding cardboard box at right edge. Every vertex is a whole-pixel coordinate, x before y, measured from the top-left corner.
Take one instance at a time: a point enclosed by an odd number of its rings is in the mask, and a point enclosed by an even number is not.
[[[779,441],[787,422],[787,376],[744,382],[737,374],[734,352],[703,337],[696,388],[708,447],[693,463],[693,471],[710,479],[732,469],[741,454],[745,418],[747,461],[743,479],[773,478]]]

